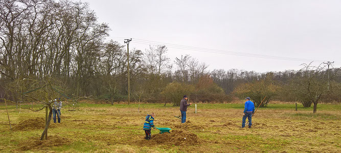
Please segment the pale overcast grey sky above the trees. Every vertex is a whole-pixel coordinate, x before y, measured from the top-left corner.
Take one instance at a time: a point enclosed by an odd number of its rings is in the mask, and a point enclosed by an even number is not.
[[[314,65],[335,61],[334,66],[341,67],[341,1],[81,2],[89,4],[99,22],[108,23],[110,37],[122,44],[124,38],[132,38],[129,48],[144,51],[148,43],[141,43],[148,40],[217,49],[190,50],[166,44],[171,61],[189,54],[210,70],[257,72],[297,70],[312,60]],[[290,60],[283,60],[285,57]]]

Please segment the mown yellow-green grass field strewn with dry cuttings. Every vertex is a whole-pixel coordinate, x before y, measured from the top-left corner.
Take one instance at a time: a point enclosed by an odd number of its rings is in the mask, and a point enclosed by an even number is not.
[[[252,129],[239,128],[243,103],[197,104],[197,114],[190,106],[185,124],[174,117],[180,114],[178,107],[163,105],[141,104],[140,112],[139,104],[81,104],[77,111],[65,107],[62,123],[52,121],[49,140],[40,141],[45,111],[21,109],[19,113],[15,106],[8,106],[13,127],[9,133],[6,107],[1,104],[0,151],[341,152],[339,104],[319,104],[316,114],[312,107],[299,105],[295,111],[294,104],[269,104],[257,111]],[[173,133],[152,130],[152,139],[144,140],[142,126],[151,112],[156,114],[157,127],[170,127]]]

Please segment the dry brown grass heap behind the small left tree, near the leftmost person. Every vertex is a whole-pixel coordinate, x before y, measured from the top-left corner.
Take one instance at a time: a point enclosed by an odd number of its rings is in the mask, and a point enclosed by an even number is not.
[[[51,123],[52,122],[52,123]],[[51,120],[49,128],[56,127]],[[20,121],[16,126],[13,127],[14,131],[28,131],[28,130],[36,130],[36,129],[44,129],[45,128],[45,119],[42,117],[37,117],[33,119],[26,119]]]

